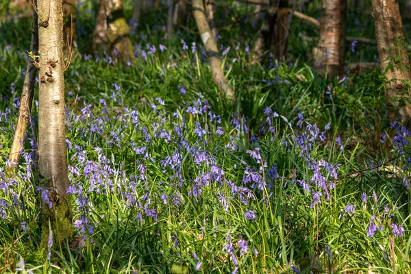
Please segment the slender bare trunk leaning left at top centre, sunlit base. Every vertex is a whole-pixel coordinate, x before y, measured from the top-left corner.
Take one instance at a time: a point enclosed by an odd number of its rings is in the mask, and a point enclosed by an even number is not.
[[[194,12],[194,18],[199,29],[201,40],[203,40],[203,44],[208,55],[208,61],[210,62],[211,75],[214,84],[216,84],[219,88],[221,95],[231,99],[231,102],[234,103],[234,90],[232,90],[227,82],[227,79],[225,79],[223,68],[221,67],[219,49],[217,49],[216,40],[214,40],[210,25],[208,25],[203,0],[192,0],[192,10]]]

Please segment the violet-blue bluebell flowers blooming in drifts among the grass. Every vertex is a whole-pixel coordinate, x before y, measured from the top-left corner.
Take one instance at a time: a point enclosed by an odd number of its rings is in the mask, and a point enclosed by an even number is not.
[[[182,41],[183,47],[188,46]],[[147,50],[147,51],[146,51]],[[150,55],[156,48],[147,45],[139,49],[139,54]],[[228,53],[229,48],[227,48]],[[160,47],[160,51],[166,51]],[[225,54],[227,54],[225,53]],[[223,53],[224,54],[224,53]],[[184,86],[177,86],[182,95],[186,95]],[[119,201],[133,214],[134,221],[139,224],[162,221],[164,208],[172,207],[175,214],[182,212],[184,199],[192,203],[200,203],[204,193],[215,195],[216,208],[221,212],[229,212],[232,201],[238,201],[244,208],[242,216],[247,222],[258,222],[260,216],[256,213],[256,203],[269,203],[275,199],[274,188],[282,184],[284,188],[297,188],[308,199],[310,208],[329,201],[330,193],[336,188],[338,165],[323,159],[314,158],[312,153],[327,141],[326,131],[330,125],[325,125],[321,131],[316,124],[305,121],[303,114],[297,114],[295,126],[284,116],[279,116],[270,108],[264,110],[264,119],[258,130],[258,136],[251,136],[247,127],[247,119],[232,115],[230,125],[223,127],[221,117],[212,112],[206,99],[201,96],[187,103],[184,110],[166,112],[166,103],[160,97],[148,104],[151,116],[143,116],[134,107],[127,107],[121,101],[121,86],[113,84],[110,90],[112,103],[121,108],[119,112],[111,112],[104,99],[100,105],[89,105],[79,112],[66,110],[66,126],[71,135],[66,139],[69,153],[69,188],[66,194],[72,195],[75,204],[74,225],[79,234],[90,236],[95,233],[99,223],[93,223],[92,212],[98,206],[93,200],[105,201],[109,195],[118,195]],[[1,122],[7,123],[10,110],[0,112]],[[36,119],[34,119],[36,121]],[[285,123],[284,123],[285,122]],[[281,125],[281,126],[280,126]],[[282,126],[293,130],[279,132]],[[408,146],[408,129],[397,127],[394,144],[399,151],[405,151]],[[228,134],[227,132],[230,132]],[[244,149],[238,145],[244,136],[250,136],[250,146]],[[277,142],[284,153],[296,153],[306,164],[307,171],[303,174],[292,174],[290,177],[280,177],[278,164],[266,158],[266,149],[259,140]],[[218,140],[223,149],[210,146],[210,140]],[[21,151],[23,154],[24,172],[20,173],[23,182],[32,182],[33,169],[38,160],[36,142],[32,134],[28,139],[32,149]],[[337,149],[344,146],[338,137],[335,140]],[[117,158],[116,155],[125,155]],[[227,170],[227,165],[221,159],[235,156],[235,164]],[[159,171],[154,173],[153,171]],[[241,174],[236,177],[234,173]],[[307,175],[308,174],[308,175]],[[12,199],[0,199],[0,218],[10,219],[10,210],[22,210],[22,202],[15,179],[6,179],[3,167],[0,167],[0,191]],[[403,180],[408,188],[408,181]],[[155,189],[155,191],[152,191]],[[47,189],[37,187],[45,206],[52,208]],[[3,196],[4,196],[3,195]],[[29,195],[29,190],[27,190]],[[1,197],[3,197],[1,196]],[[366,208],[367,196],[362,195]],[[373,194],[377,203],[377,196]],[[163,215],[162,215],[163,214]],[[353,203],[345,206],[344,214],[356,214]],[[103,218],[103,217],[101,217]],[[388,214],[379,219],[392,218]],[[214,226],[216,220],[210,222]],[[204,225],[205,226],[205,225]],[[25,230],[27,222],[21,222]],[[372,237],[384,227],[377,221],[375,215],[370,219],[367,235]],[[399,223],[392,223],[390,231],[394,236],[401,237],[404,228]],[[52,235],[50,236],[52,242]],[[175,232],[171,237],[170,246],[177,249],[179,235]],[[250,252],[251,241],[244,235],[232,236],[227,233],[225,246],[222,247],[238,271],[240,258]],[[258,249],[251,249],[258,256]],[[331,260],[331,249],[325,253]],[[193,252],[196,269],[201,269],[201,254]],[[296,271],[295,271],[296,272]]]

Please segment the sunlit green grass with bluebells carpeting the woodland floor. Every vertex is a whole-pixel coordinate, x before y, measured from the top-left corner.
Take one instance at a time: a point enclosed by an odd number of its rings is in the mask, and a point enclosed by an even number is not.
[[[126,16],[131,8],[125,1]],[[223,18],[217,23],[224,25],[253,7],[230,3],[217,8],[217,18]],[[220,32],[221,47],[231,47],[223,62],[238,94],[237,104],[230,106],[212,83],[199,38],[182,30],[163,39],[161,25],[155,26],[161,22],[154,20],[164,20],[166,11],[151,13],[132,35],[139,57],[127,66],[108,64],[107,56],[87,51],[95,18],[86,9],[93,9],[91,1],[79,8],[77,58],[64,75],[80,247],[57,244],[50,260],[39,250],[40,205],[46,205],[42,190],[36,190],[36,103],[18,175],[3,175],[30,22],[1,25],[1,271],[409,273],[410,192],[403,185],[410,175],[408,152],[372,169],[399,155],[398,142],[409,151],[409,134],[399,127],[391,145],[395,129],[386,119],[384,77],[377,70],[347,73],[345,79],[319,76],[307,56],[313,45],[298,36],[314,37],[318,30],[298,21],[292,21],[287,62],[267,58],[251,65],[246,45],[251,47],[256,31],[250,22],[240,22]],[[316,6],[306,12],[319,16]],[[350,13],[349,21],[355,16]],[[373,38],[370,17],[358,18],[360,25],[349,35]],[[192,21],[189,27],[195,29]],[[196,51],[183,51],[180,39],[188,47],[196,42]],[[144,58],[146,44],[155,45],[156,52]],[[168,49],[161,52],[160,44]],[[348,60],[375,60],[375,49],[356,49]],[[381,135],[389,131],[383,144]],[[321,203],[314,202],[316,192],[322,192]],[[355,212],[345,212],[350,205]],[[255,219],[247,218],[251,212]],[[367,236],[371,223],[377,230]],[[401,225],[403,236],[395,236],[392,225]]]

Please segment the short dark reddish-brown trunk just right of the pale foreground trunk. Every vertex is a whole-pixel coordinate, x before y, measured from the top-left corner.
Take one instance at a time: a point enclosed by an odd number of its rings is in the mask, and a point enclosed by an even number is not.
[[[69,53],[71,47],[77,47],[75,35],[75,0],[63,0],[63,51]]]

